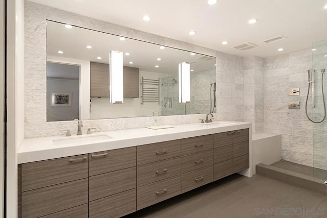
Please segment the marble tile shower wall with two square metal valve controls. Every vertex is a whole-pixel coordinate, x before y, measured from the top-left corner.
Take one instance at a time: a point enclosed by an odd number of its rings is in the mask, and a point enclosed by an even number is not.
[[[283,159],[308,166],[313,165],[313,125],[305,113],[311,68],[311,50],[264,60],[265,132],[282,134]],[[288,88],[299,88],[300,95],[288,96]],[[289,101],[299,101],[300,109],[288,109]]]

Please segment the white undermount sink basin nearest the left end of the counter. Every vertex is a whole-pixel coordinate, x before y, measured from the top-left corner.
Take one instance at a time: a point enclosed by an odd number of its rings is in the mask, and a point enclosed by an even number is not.
[[[106,135],[106,134],[68,136],[68,137],[64,137],[64,138],[52,139],[52,144],[54,146],[62,146],[62,145],[76,144],[76,143],[98,142],[98,141],[107,140],[110,138],[112,138],[112,137],[109,135]]]

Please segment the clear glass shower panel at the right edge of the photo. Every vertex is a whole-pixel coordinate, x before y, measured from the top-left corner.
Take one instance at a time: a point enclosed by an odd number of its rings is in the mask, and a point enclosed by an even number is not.
[[[327,181],[327,40],[312,44],[312,66],[314,72],[313,120],[313,166],[314,178]],[[322,122],[320,122],[322,121]],[[320,123],[318,123],[320,122]]]

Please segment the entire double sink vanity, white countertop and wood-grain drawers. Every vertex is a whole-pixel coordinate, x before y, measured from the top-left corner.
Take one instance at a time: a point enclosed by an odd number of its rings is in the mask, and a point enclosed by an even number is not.
[[[120,217],[250,166],[251,124],[214,122],[25,139],[21,217]]]

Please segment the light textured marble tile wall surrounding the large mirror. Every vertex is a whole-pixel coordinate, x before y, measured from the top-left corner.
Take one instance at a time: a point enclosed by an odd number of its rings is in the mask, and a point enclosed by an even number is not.
[[[46,19],[70,23],[83,28],[122,35],[138,40],[175,47],[217,57],[216,119],[243,121],[243,58],[165,38],[112,23],[25,2],[25,138],[61,134],[60,130],[77,131],[76,121],[46,122]],[[162,124],[196,123],[205,114],[161,116]],[[84,130],[97,131],[137,128],[153,125],[153,117],[84,120]]]

